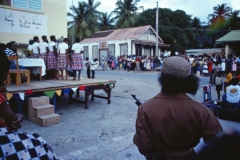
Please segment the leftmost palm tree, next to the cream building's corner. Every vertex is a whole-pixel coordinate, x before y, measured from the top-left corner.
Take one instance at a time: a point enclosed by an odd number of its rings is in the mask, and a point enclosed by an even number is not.
[[[91,34],[98,31],[97,23],[97,13],[96,8],[101,4],[97,2],[94,4],[94,0],[88,0],[88,3],[81,1],[78,2],[78,7],[71,6],[70,10],[73,12],[68,12],[67,15],[72,17],[73,20],[68,22],[69,26],[69,36],[79,36],[80,39],[84,39]],[[74,27],[74,35],[72,30]]]

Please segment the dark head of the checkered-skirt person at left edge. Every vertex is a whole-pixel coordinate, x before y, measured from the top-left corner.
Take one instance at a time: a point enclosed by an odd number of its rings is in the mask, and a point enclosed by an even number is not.
[[[0,86],[4,85],[10,62],[4,52],[4,46],[0,45]]]

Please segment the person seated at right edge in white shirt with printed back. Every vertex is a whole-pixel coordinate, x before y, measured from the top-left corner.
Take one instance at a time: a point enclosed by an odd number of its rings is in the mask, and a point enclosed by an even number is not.
[[[226,94],[222,96],[223,104],[227,107],[240,107],[240,86],[239,80],[232,78],[230,86],[226,88]]]

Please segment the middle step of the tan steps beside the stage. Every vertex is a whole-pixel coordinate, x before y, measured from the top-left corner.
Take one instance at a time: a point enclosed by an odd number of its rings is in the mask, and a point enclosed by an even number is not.
[[[44,116],[44,115],[48,115],[48,114],[53,114],[54,113],[54,106],[51,104],[46,104],[46,105],[42,105],[42,106],[36,106],[34,107],[34,112],[35,112],[35,116],[39,117],[39,116]]]

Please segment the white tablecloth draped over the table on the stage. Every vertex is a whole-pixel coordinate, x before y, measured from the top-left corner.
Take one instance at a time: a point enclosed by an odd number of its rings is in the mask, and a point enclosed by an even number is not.
[[[42,76],[44,76],[46,74],[46,66],[45,63],[43,61],[43,59],[41,58],[23,58],[23,59],[18,59],[18,64],[26,67],[31,70],[31,73],[34,74],[39,74],[40,72],[40,68],[42,67]],[[30,68],[31,67],[31,68]]]

